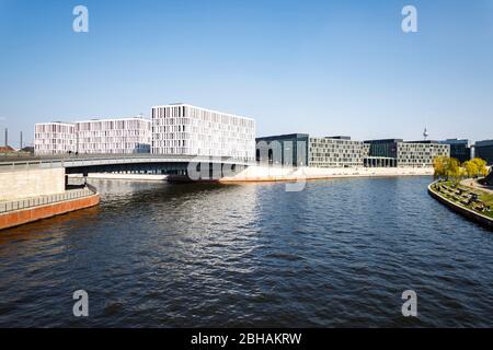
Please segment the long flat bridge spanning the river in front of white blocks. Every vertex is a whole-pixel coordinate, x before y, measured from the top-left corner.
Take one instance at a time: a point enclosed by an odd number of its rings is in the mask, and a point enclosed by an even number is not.
[[[0,172],[64,167],[66,174],[83,176],[90,173],[145,173],[186,176],[194,179],[216,179],[232,176],[254,164],[253,161],[214,156],[148,153],[79,154],[0,159]]]

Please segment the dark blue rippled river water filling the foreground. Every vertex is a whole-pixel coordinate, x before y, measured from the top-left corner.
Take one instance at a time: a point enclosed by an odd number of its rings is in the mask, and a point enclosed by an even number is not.
[[[92,180],[98,208],[0,232],[0,326],[492,327],[493,234],[429,182]]]

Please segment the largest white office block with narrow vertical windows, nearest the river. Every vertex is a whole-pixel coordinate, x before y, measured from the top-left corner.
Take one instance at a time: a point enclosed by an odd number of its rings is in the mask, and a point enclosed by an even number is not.
[[[152,107],[153,154],[255,160],[255,120],[188,104]]]

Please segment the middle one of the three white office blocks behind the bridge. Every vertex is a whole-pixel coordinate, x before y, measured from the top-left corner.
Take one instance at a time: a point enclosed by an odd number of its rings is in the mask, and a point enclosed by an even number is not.
[[[81,154],[150,152],[151,121],[142,117],[77,121],[76,133]]]

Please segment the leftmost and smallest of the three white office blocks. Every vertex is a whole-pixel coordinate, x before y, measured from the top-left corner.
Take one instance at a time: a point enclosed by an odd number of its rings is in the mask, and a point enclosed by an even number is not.
[[[71,122],[39,122],[34,126],[35,154],[76,152],[76,125]]]

